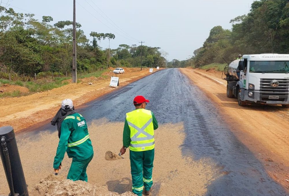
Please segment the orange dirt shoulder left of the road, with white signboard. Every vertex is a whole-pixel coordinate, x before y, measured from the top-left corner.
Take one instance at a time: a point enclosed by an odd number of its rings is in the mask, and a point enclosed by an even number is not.
[[[72,99],[74,106],[79,107],[114,91],[116,88],[109,87],[111,76],[119,77],[119,87],[121,87],[150,74],[149,68],[144,68],[142,71],[139,68],[125,68],[124,74],[108,71],[100,78],[84,78],[80,83],[68,84],[50,91],[1,99],[0,127],[11,125],[14,131],[18,132],[31,126],[39,126],[41,122],[51,120],[63,99]],[[90,82],[92,85],[88,84]]]

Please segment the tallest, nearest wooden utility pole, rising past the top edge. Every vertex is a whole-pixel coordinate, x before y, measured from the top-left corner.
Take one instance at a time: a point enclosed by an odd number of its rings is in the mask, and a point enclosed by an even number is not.
[[[76,73],[76,19],[75,19],[75,0],[73,0],[73,39],[72,39],[72,83],[77,82]]]

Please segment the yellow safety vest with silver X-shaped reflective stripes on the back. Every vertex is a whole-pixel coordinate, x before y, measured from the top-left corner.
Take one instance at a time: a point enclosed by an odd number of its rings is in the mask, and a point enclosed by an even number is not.
[[[130,129],[129,150],[146,151],[155,148],[153,116],[150,110],[137,109],[126,114]]]

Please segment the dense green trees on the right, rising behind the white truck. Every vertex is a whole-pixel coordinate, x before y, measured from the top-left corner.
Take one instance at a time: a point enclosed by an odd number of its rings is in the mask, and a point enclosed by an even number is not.
[[[194,50],[192,58],[185,61],[174,59],[168,67],[225,63],[223,57],[230,62],[238,54],[289,53],[288,0],[254,1],[247,15],[238,16],[230,23],[231,30],[213,27],[203,46]]]

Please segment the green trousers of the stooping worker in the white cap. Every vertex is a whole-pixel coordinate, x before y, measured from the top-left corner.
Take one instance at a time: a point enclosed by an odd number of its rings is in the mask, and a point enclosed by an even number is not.
[[[67,179],[76,181],[76,180],[82,180],[87,182],[87,174],[86,174],[86,168],[88,166],[88,163],[92,160],[93,154],[88,159],[85,159],[83,161],[76,161],[72,159],[72,163],[67,175]]]

